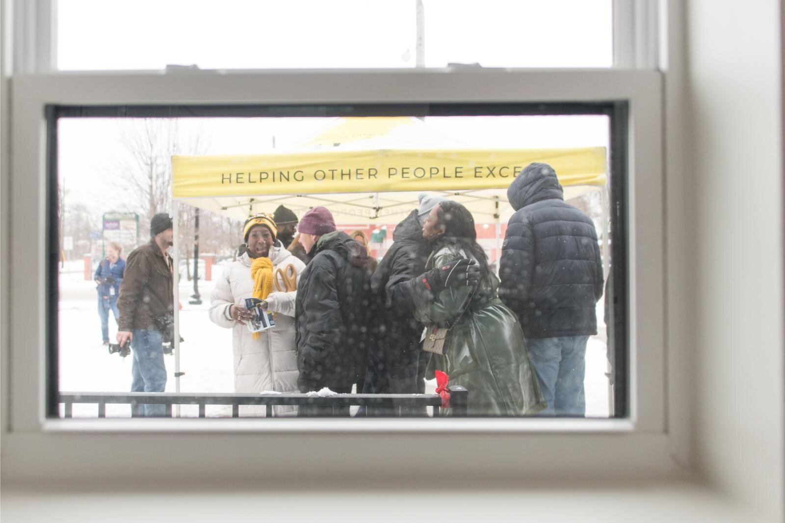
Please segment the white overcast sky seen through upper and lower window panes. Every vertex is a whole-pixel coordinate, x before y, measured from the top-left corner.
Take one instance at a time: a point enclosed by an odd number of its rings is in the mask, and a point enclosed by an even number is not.
[[[425,0],[425,65],[608,67],[611,0]],[[59,0],[59,68],[414,67],[415,0]],[[607,146],[604,117],[425,119],[477,148]],[[71,202],[111,210],[108,179],[127,157],[126,120],[60,121],[60,178]],[[181,125],[209,154],[292,148],[323,119],[209,119]],[[423,144],[428,147],[429,144]]]

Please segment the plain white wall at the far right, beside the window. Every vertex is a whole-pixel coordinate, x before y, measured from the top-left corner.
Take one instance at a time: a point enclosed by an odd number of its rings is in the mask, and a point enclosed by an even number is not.
[[[783,514],[780,2],[696,0],[686,14],[696,458],[710,481],[773,521]]]

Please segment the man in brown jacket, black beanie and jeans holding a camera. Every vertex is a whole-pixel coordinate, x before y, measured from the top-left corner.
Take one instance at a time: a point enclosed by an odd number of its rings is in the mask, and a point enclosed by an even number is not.
[[[158,213],[150,221],[149,243],[134,249],[126,261],[126,274],[120,285],[117,307],[120,326],[117,342],[131,342],[133,367],[131,392],[163,392],[166,368],[163,342],[172,337],[174,324],[174,286],[172,257],[172,218]],[[141,405],[141,413],[164,415],[164,405]]]

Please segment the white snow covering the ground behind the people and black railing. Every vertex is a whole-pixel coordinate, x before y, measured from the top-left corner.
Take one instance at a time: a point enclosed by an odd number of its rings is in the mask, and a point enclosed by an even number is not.
[[[214,276],[219,276],[221,266],[215,266]],[[92,275],[92,271],[91,271]],[[210,291],[214,281],[199,281],[202,304],[192,305],[193,282],[185,279],[179,285],[183,308],[180,311],[180,333],[184,342],[180,346],[181,392],[231,393],[234,391],[232,371],[232,330],[217,327],[207,316],[210,308]],[[60,271],[60,390],[79,392],[127,392],[131,384],[132,357],[122,358],[118,353],[109,354],[102,344],[100,318],[97,312],[97,293],[93,280],[84,279],[81,260],[67,262]],[[586,348],[586,415],[607,417],[608,361],[605,357],[605,330],[602,300],[597,307],[599,333],[589,340]],[[117,324],[109,317],[109,338],[114,341]],[[174,379],[174,356],[165,356],[166,392],[177,391]],[[436,381],[426,382],[426,393],[433,393]],[[229,407],[206,407],[206,415],[229,415]],[[95,405],[74,405],[74,416],[94,417]],[[128,405],[107,405],[107,416],[128,416]],[[181,415],[196,416],[197,407],[181,407]]]

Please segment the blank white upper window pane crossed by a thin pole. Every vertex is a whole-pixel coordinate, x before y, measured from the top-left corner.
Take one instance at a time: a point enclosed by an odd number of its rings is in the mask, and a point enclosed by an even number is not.
[[[60,70],[612,65],[612,2],[59,0]]]

